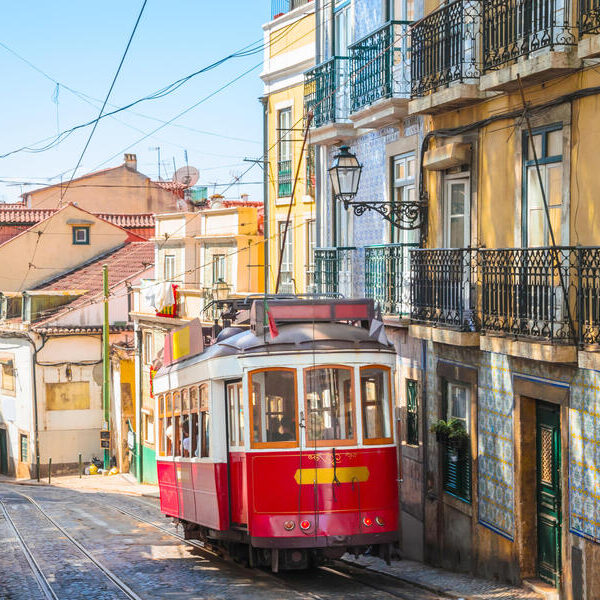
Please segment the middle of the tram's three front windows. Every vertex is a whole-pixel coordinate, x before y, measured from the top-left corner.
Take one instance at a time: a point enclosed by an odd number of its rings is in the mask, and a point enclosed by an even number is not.
[[[355,440],[353,370],[319,367],[305,371],[306,435],[309,442]]]

